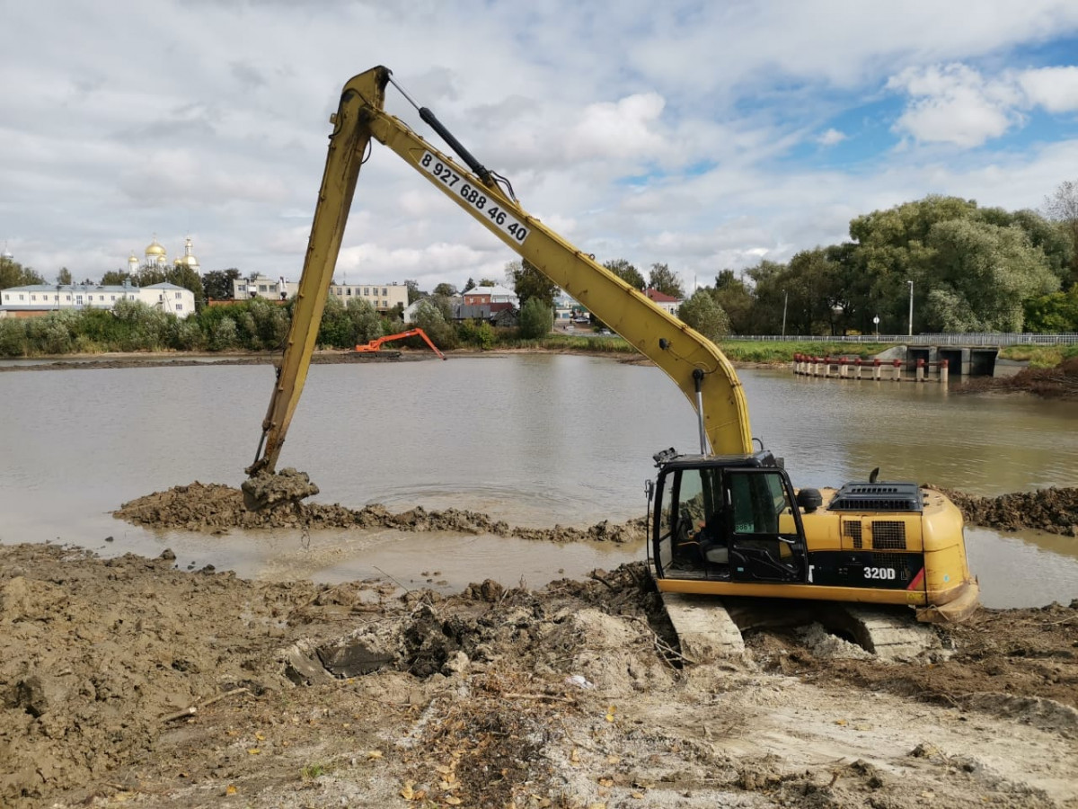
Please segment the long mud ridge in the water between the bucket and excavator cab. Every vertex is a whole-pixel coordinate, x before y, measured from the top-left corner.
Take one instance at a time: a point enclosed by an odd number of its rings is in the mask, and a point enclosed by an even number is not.
[[[317,491],[317,490],[316,490]],[[503,520],[466,509],[428,511],[420,507],[393,513],[381,504],[356,511],[340,505],[296,503],[280,495],[276,507],[252,511],[245,507],[244,493],[219,483],[174,486],[164,492],[125,503],[113,516],[150,527],[186,529],[221,534],[229,529],[396,529],[398,531],[457,531],[495,534],[555,543],[632,543],[644,539],[645,520],[611,523],[607,520],[586,529],[555,525],[552,529],[513,526]]]

